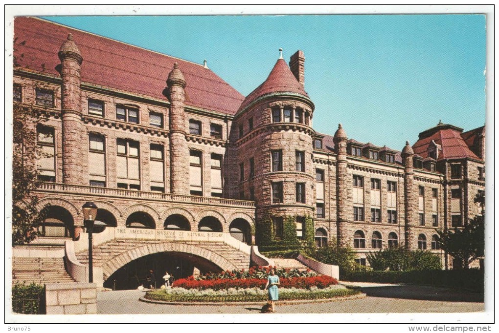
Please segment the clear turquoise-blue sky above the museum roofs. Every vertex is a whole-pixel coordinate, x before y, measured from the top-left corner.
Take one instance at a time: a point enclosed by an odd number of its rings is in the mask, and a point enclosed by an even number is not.
[[[313,127],[402,149],[440,119],[485,123],[486,18],[457,15],[44,16],[208,66],[243,95],[283,48],[305,54]]]

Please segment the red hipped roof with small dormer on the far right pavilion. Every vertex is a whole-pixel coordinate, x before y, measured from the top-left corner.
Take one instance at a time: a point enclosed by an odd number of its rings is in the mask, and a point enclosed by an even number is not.
[[[412,146],[414,153],[423,158],[429,157],[428,145],[435,140],[435,143],[442,146],[442,151],[437,160],[460,159],[460,158],[480,158],[470,150],[465,140],[461,136],[462,129],[452,125],[439,124],[438,126],[420,133],[420,139]]]

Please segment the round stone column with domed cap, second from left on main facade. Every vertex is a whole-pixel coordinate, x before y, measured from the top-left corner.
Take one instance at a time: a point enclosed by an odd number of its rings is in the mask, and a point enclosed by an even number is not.
[[[178,63],[174,64],[166,82],[170,100],[170,191],[188,195],[189,149],[184,115],[186,81]]]

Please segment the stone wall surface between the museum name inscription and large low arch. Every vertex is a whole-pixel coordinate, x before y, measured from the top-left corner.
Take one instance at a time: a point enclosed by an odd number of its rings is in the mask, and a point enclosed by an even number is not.
[[[202,242],[202,241],[179,241],[195,245],[214,253],[217,253],[230,262],[232,262],[239,269],[250,267],[250,255],[240,252],[236,248],[224,242]],[[93,264],[94,266],[103,266],[108,260],[111,260],[117,255],[132,250],[137,247],[145,246],[148,244],[161,243],[159,241],[133,241],[125,239],[114,239],[93,247]],[[76,253],[76,258],[83,265],[88,265],[88,251],[84,250]]]

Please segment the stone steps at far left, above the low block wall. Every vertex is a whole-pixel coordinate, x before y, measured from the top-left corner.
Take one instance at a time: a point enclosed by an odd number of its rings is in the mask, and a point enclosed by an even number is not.
[[[12,259],[12,284],[75,282],[64,268],[63,258],[24,258]]]

